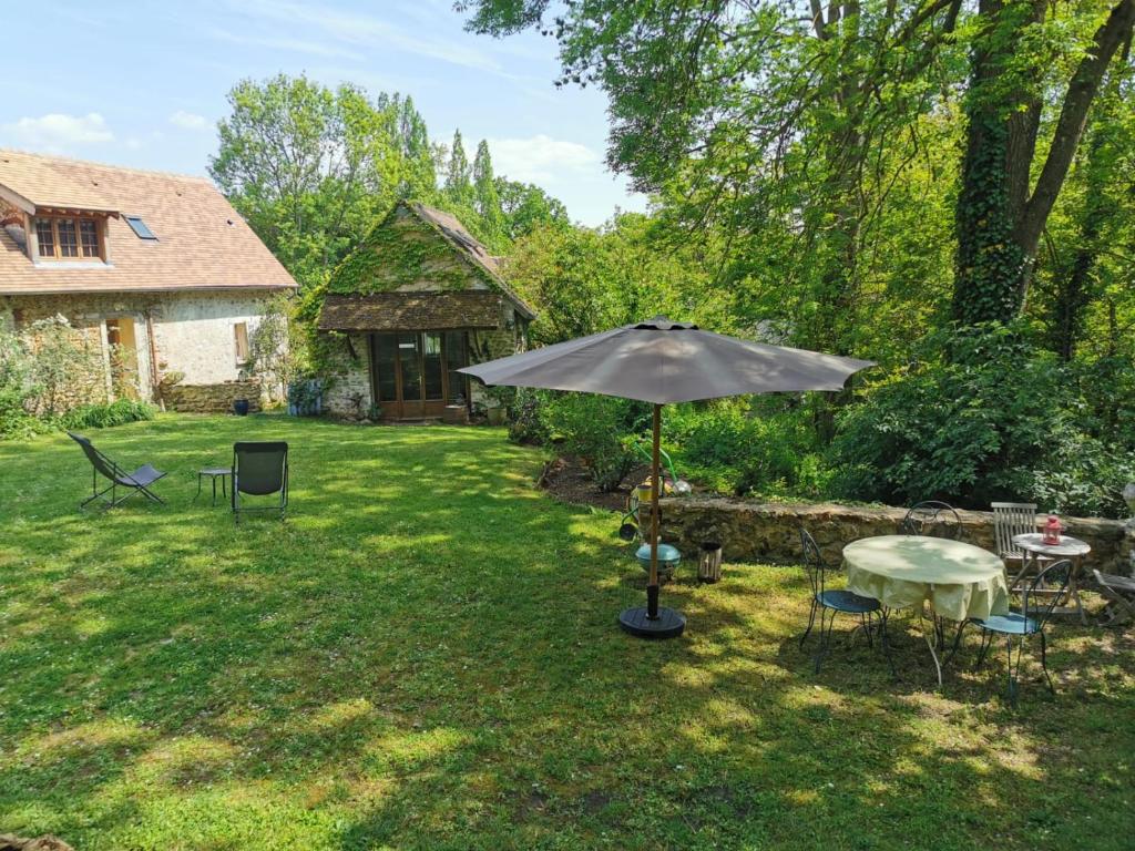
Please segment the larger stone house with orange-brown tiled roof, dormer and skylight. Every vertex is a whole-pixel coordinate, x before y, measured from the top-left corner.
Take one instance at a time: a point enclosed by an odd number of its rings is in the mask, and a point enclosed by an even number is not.
[[[205,178],[0,150],[0,323],[65,318],[102,354],[89,401],[125,371],[182,410],[255,402],[250,336],[295,287]]]

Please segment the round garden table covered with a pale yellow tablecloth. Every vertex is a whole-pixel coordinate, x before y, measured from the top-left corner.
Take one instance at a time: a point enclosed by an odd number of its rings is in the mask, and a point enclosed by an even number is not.
[[[1009,612],[1004,564],[972,544],[920,534],[864,538],[843,548],[843,566],[849,591],[886,608],[917,609],[940,685],[942,665],[925,629],[924,604],[933,612],[935,639],[941,638],[939,618],[965,622]]]

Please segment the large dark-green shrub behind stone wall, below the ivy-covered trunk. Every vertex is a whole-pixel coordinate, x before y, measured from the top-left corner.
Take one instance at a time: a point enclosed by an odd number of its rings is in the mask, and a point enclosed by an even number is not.
[[[892,504],[994,499],[1121,516],[1129,445],[1093,433],[1076,369],[1011,329],[951,340],[949,362],[888,376],[840,421],[836,488]]]

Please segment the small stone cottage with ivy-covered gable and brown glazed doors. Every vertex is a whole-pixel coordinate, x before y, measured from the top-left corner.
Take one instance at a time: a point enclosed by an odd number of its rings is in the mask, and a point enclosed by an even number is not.
[[[377,405],[386,420],[468,415],[484,388],[456,370],[524,348],[533,317],[456,218],[398,203],[328,283],[319,329],[337,369],[325,404],[346,415]]]

